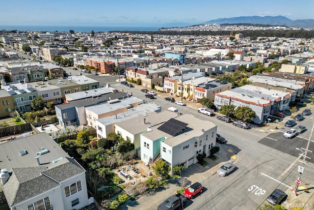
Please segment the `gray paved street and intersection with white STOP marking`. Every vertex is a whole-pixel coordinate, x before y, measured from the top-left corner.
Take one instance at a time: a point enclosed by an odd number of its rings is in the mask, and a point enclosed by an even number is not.
[[[125,86],[115,83],[111,87],[118,89]],[[139,98],[143,98],[145,94],[137,88],[124,89],[125,91],[132,91],[133,95]],[[287,139],[283,137],[283,133],[288,128],[283,125],[289,118],[277,124],[279,129],[275,129],[276,124],[271,124],[269,127],[253,127],[246,130],[235,127],[232,123],[217,120],[215,117],[199,114],[196,105],[188,104],[181,107],[164,101],[164,96],[165,93],[157,92],[156,99],[144,99],[160,104],[165,108],[174,106],[182,113],[193,114],[200,119],[213,121],[218,125],[217,132],[228,141],[224,146],[236,153],[235,164],[237,168],[234,173],[227,177],[219,177],[214,174],[217,166],[219,167],[222,164],[220,162],[226,161],[221,159],[215,163],[218,165],[211,169],[204,171],[204,167],[194,164],[182,172],[182,176],[190,180],[191,183],[200,181],[205,187],[201,195],[186,203],[185,209],[257,209],[266,202],[268,195],[276,188],[280,188],[289,194],[286,208],[292,209],[301,202],[300,205],[305,209],[311,209],[307,208],[310,207],[310,204],[314,204],[314,198],[311,195],[308,196],[300,191],[299,196],[296,197],[293,193],[290,193],[295,187],[295,180],[299,174],[297,167],[300,164],[297,160],[298,157],[301,157],[299,155],[300,151],[295,150],[295,148],[306,148],[313,125],[311,117],[298,122],[305,125],[308,128],[307,131],[292,139]],[[180,99],[176,98],[176,100]],[[313,147],[313,142],[311,142],[309,150],[313,150]],[[308,156],[311,155],[309,153]],[[313,162],[313,159],[311,162]],[[302,175],[303,185],[313,184],[313,173],[314,164],[307,164]],[[136,204],[132,203],[131,206],[127,205],[124,208],[130,210],[156,209],[159,203],[174,194],[177,189],[180,189],[180,186],[169,184],[169,188],[161,189],[154,196],[142,196],[136,200]],[[313,195],[314,192],[311,191],[310,193]],[[294,203],[297,201],[299,203]]]

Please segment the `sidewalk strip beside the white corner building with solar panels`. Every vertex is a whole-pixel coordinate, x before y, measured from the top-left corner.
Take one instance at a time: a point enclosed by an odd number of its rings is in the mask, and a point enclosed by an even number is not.
[[[228,144],[217,145],[220,147],[219,152],[215,155],[219,158],[216,161],[212,161],[209,158],[205,158],[205,161],[209,163],[206,167],[201,166],[199,163],[190,165],[187,169],[181,172],[181,177],[189,180],[189,184],[196,181],[202,182],[208,179],[210,176],[216,174],[217,170],[225,162],[235,162],[237,159],[236,152],[232,150]],[[164,199],[175,194],[176,190],[182,187],[176,183],[176,180],[170,180],[166,187],[159,187],[155,193],[146,193],[136,198],[136,200],[128,200],[120,210],[149,210],[154,209],[164,201]]]

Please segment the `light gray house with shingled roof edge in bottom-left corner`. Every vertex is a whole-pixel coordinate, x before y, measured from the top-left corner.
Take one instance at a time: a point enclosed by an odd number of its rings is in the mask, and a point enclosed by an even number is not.
[[[11,210],[89,205],[86,171],[46,132],[0,144],[0,159],[0,189]]]

